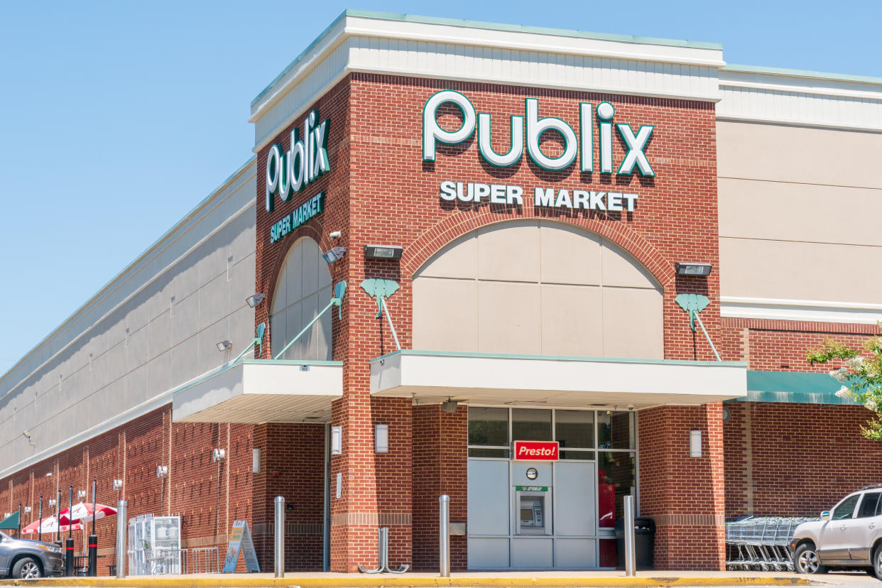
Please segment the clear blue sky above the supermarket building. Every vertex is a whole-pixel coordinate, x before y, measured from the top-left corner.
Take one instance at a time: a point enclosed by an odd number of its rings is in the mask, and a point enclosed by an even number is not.
[[[882,1],[0,0],[0,372],[250,155],[249,104],[345,8],[723,44],[882,77]]]

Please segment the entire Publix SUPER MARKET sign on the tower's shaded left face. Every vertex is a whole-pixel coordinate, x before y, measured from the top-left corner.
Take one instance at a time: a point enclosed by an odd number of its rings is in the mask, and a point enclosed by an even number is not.
[[[276,198],[288,202],[297,192],[315,182],[318,176],[331,170],[327,140],[331,120],[318,122],[318,110],[303,119],[303,135],[297,127],[291,129],[290,147],[285,151],[275,144],[266,153],[266,212],[273,212]],[[305,204],[297,207],[270,227],[270,242],[300,227],[325,210],[325,194],[319,192]]]

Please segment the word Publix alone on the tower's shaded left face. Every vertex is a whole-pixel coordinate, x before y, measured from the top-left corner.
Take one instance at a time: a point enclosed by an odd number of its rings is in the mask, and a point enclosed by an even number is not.
[[[291,147],[283,151],[281,145],[270,147],[266,154],[266,212],[273,212],[275,197],[287,202],[292,194],[303,190],[319,175],[331,169],[327,141],[331,120],[318,123],[318,110],[303,120],[303,139],[298,129],[291,129]]]

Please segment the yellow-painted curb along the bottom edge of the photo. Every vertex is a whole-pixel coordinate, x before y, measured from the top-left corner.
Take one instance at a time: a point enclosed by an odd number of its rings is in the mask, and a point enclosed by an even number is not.
[[[504,586],[808,586],[804,577],[60,577],[0,580],[0,586],[91,586],[93,588],[499,588]]]

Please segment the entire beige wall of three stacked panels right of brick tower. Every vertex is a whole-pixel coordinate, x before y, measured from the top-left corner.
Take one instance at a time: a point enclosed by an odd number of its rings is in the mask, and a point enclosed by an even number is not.
[[[717,122],[721,296],[879,303],[882,133]]]

